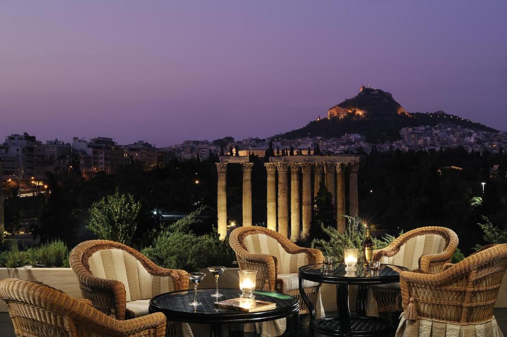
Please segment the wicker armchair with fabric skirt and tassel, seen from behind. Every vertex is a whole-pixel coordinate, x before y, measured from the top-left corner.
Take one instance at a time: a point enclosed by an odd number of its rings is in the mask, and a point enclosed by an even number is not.
[[[404,314],[396,336],[502,336],[493,308],[507,268],[507,244],[470,255],[438,274],[402,272]],[[439,334],[443,335],[443,334]]]

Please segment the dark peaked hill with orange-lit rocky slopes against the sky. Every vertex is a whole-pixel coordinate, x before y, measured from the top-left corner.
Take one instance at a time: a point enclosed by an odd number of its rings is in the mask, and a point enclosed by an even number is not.
[[[464,128],[498,132],[480,123],[446,114],[409,113],[392,94],[370,86],[361,86],[359,93],[328,110],[328,117],[308,123],[301,129],[292,130],[273,139],[297,139],[304,137],[336,138],[345,134],[357,133],[366,136],[367,141],[379,143],[401,139],[402,128],[436,126],[452,123]]]

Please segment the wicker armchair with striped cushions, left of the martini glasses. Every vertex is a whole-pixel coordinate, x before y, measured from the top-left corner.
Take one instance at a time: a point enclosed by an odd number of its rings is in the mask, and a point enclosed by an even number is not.
[[[119,320],[147,315],[155,295],[188,289],[187,272],[161,268],[137,250],[114,241],[80,243],[70,252],[69,264],[83,297]],[[178,335],[181,324],[168,321],[167,327],[168,334]],[[184,329],[190,328],[185,325]]]

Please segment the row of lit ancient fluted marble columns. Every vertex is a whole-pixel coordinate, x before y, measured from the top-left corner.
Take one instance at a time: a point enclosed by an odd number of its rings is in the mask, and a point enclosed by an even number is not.
[[[243,168],[243,226],[252,225],[251,170],[253,163],[240,163]],[[336,204],[337,229],[345,231],[345,170],[349,166],[349,215],[358,213],[357,202],[357,163],[265,163],[267,171],[267,227],[288,236],[288,181],[287,173],[291,172],[291,233],[292,241],[307,238],[310,232],[313,200],[318,194],[319,186],[325,183]],[[216,163],[218,172],[218,231],[221,239],[227,236],[227,163]],[[299,193],[299,172],[302,171],[302,202]],[[312,194],[311,174],[314,171],[314,193]],[[276,186],[278,173],[278,186]],[[277,188],[278,187],[278,188]],[[277,194],[278,191],[278,194]],[[277,209],[278,197],[278,209]],[[300,219],[300,207],[302,219]],[[277,211],[278,210],[278,211]],[[302,220],[302,221],[301,221]],[[300,224],[302,222],[302,231]]]

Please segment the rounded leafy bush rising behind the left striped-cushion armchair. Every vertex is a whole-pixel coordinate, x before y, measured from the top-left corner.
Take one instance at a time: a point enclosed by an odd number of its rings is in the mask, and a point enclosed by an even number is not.
[[[131,194],[119,194],[102,198],[90,207],[87,227],[100,239],[129,245],[137,228],[141,202]]]

